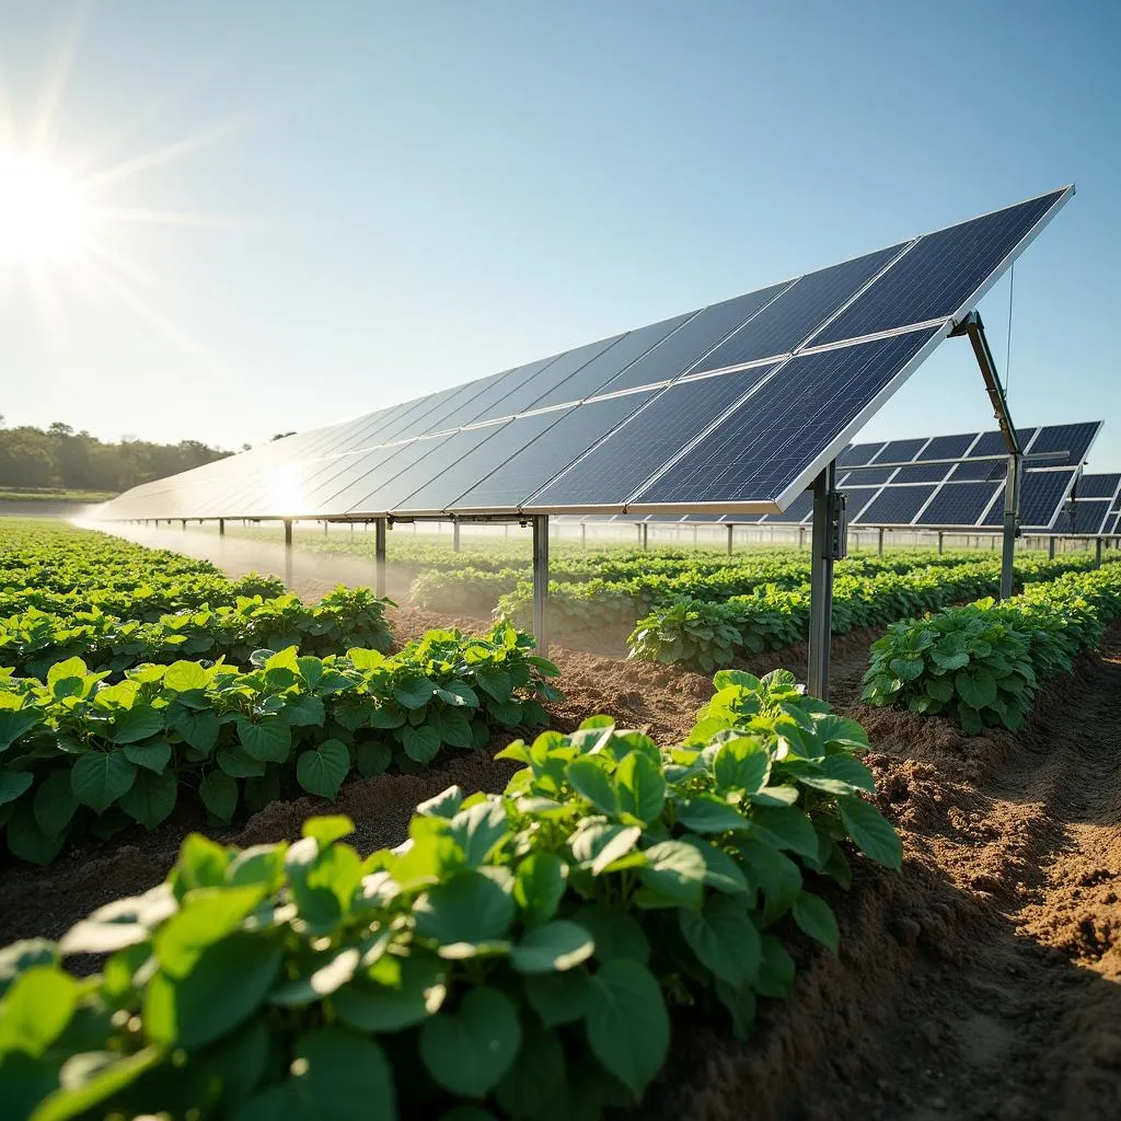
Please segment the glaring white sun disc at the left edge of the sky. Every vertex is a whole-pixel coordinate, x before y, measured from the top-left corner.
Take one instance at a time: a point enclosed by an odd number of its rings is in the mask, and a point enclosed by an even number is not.
[[[0,261],[38,265],[73,258],[92,211],[78,183],[45,159],[0,149]]]

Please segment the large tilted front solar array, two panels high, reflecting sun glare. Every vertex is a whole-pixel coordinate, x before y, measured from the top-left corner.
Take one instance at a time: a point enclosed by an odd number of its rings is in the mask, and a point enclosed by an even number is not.
[[[777,513],[1073,189],[146,483],[101,516]]]

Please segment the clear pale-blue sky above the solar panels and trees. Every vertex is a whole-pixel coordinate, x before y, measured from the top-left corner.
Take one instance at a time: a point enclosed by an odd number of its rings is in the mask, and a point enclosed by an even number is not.
[[[0,0],[0,154],[103,212],[0,270],[0,413],[238,447],[1074,180],[1010,401],[1121,470],[1119,43],[1117,0]],[[951,340],[864,436],[978,427]]]

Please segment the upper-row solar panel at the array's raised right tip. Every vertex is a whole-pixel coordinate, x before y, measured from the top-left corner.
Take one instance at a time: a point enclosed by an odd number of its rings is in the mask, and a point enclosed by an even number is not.
[[[954,315],[1062,196],[1051,192],[928,233],[845,308],[813,345]]]

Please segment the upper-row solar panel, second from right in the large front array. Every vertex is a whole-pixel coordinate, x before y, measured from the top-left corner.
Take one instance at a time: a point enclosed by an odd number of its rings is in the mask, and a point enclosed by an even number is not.
[[[694,373],[786,354],[804,343],[876,276],[906,242],[802,277],[697,363]]]

